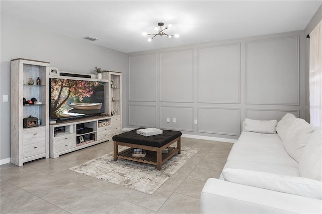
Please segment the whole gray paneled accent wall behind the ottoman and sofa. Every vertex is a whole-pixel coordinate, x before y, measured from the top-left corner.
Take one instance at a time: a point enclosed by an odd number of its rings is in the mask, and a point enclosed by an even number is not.
[[[130,53],[128,127],[237,139],[245,118],[292,113],[305,119],[305,36],[297,31]]]

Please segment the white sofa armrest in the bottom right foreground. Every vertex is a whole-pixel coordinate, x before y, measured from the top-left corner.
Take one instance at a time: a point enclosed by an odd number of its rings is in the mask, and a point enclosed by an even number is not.
[[[201,213],[321,213],[322,200],[209,178]]]

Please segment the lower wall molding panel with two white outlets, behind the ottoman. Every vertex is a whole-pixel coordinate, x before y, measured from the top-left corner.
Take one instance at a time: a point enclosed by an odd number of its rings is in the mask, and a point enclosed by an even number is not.
[[[194,131],[193,106],[160,105],[160,128],[181,131]],[[170,122],[167,122],[167,118]],[[174,123],[173,119],[176,119]]]

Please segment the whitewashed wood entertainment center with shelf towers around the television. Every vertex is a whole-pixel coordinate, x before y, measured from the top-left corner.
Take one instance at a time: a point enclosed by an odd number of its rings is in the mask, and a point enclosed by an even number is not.
[[[122,73],[108,71],[102,76],[98,79],[95,74],[62,72],[50,67],[49,62],[21,58],[12,60],[11,162],[22,166],[25,162],[43,157],[57,158],[109,141],[114,135],[122,133]],[[31,84],[30,80],[38,77],[41,83],[34,81]],[[100,82],[104,85],[104,107],[100,114],[52,119],[50,78]],[[29,104],[31,97],[37,102]],[[32,119],[38,121],[33,122]]]

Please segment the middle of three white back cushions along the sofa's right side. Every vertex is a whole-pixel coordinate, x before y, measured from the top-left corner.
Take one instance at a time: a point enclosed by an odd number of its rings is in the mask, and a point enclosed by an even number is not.
[[[286,132],[283,145],[287,153],[298,163],[300,162],[306,142],[311,137],[314,127],[303,119],[295,119]]]

